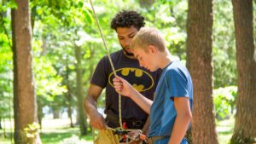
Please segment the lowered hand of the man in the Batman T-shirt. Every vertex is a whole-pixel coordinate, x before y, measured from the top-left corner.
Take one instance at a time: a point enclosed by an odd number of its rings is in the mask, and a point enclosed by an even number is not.
[[[104,118],[102,114],[99,112],[95,112],[91,117],[90,117],[90,125],[97,129],[97,130],[103,130],[106,129],[106,125],[104,122]]]

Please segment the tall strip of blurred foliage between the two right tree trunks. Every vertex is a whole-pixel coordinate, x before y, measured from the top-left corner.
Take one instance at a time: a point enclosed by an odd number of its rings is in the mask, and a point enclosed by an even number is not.
[[[213,82],[217,89],[236,85],[236,47],[231,1],[216,0],[213,9]]]

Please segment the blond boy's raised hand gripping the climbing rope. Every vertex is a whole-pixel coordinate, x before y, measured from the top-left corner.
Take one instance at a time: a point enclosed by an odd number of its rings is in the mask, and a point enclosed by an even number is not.
[[[120,95],[131,97],[131,93],[135,90],[124,78],[116,77],[113,78],[113,87]]]

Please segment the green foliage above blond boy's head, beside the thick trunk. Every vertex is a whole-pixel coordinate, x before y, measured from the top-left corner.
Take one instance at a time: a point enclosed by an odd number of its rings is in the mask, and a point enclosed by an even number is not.
[[[186,56],[187,1],[157,1],[150,9],[143,9],[146,26],[156,26],[166,36],[166,46],[181,60]],[[158,16],[161,15],[161,16]]]

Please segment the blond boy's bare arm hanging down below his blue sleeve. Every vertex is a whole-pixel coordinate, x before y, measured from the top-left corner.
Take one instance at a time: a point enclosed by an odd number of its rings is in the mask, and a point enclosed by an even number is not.
[[[168,144],[180,144],[188,130],[192,113],[189,107],[189,98],[174,97],[173,101],[174,107],[177,111],[177,117],[175,119],[172,135]]]

